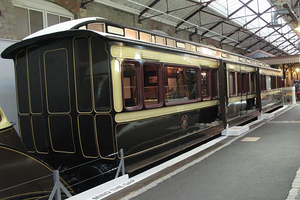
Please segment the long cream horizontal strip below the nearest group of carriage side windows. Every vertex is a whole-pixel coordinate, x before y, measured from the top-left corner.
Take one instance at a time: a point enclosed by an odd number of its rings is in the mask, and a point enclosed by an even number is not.
[[[117,123],[122,123],[122,122],[141,120],[141,119],[146,119],[151,117],[163,116],[163,115],[173,114],[182,111],[189,111],[189,110],[213,106],[217,104],[218,104],[218,99],[206,100],[206,101],[195,102],[195,103],[186,103],[182,105],[160,107],[156,109],[117,113],[114,116],[114,119]]]

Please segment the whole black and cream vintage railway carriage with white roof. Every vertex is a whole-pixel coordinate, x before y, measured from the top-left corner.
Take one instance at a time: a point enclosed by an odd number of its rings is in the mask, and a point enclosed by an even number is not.
[[[27,151],[53,168],[97,160],[62,174],[69,183],[111,169],[120,148],[131,172],[280,102],[280,71],[265,63],[96,17],[1,56],[14,60]]]

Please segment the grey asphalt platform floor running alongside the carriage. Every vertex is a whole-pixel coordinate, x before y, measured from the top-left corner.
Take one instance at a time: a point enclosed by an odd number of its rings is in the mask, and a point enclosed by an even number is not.
[[[295,200],[299,166],[300,106],[294,106],[104,199]]]

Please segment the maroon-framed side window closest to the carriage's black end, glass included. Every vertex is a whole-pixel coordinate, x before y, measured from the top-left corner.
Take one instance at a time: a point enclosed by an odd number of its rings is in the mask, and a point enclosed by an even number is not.
[[[140,65],[135,61],[124,61],[122,64],[123,74],[123,98],[127,110],[141,108],[139,92]]]

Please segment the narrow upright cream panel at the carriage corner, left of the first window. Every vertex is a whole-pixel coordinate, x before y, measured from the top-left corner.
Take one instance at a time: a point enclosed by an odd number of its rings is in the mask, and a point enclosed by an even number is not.
[[[122,85],[121,85],[121,66],[117,59],[111,61],[112,71],[112,93],[113,93],[113,107],[116,112],[123,109],[122,104]]]

